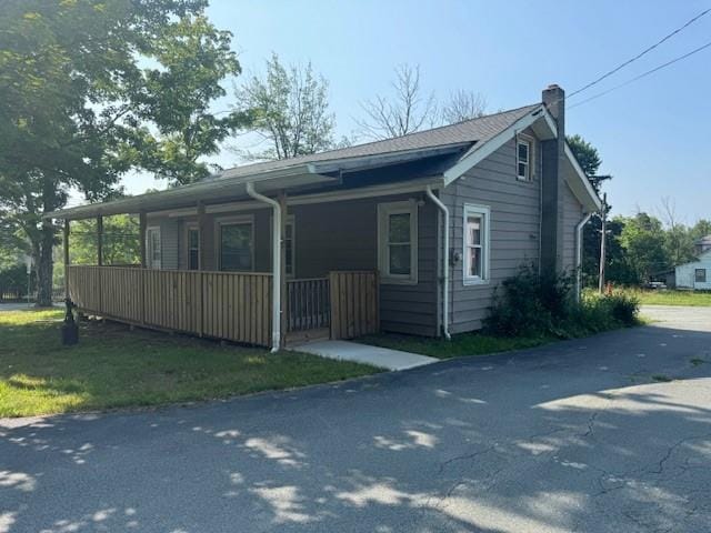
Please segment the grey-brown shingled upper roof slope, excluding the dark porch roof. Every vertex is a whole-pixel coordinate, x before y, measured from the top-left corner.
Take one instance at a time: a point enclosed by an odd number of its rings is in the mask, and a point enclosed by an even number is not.
[[[464,142],[471,142],[472,144],[477,142],[485,142],[539,107],[541,107],[540,103],[534,103],[522,108],[488,114],[477,119],[465,120],[451,125],[442,125],[431,130],[423,130],[402,137],[395,137],[393,139],[387,139],[384,141],[368,142],[339,150],[329,150],[327,152],[283,159],[280,161],[244,164],[223,170],[214,174],[211,179],[236,178],[242,174],[254,174],[312,162],[333,161],[367,155],[382,155]]]

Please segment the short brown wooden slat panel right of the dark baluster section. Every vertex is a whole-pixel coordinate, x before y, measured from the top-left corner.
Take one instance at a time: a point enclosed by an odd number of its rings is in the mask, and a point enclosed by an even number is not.
[[[377,272],[330,272],[329,284],[331,339],[353,339],[380,331]]]

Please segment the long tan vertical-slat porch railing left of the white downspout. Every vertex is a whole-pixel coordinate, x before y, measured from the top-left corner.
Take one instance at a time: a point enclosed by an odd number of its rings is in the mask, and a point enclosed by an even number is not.
[[[70,265],[84,312],[120,321],[269,345],[271,274]]]

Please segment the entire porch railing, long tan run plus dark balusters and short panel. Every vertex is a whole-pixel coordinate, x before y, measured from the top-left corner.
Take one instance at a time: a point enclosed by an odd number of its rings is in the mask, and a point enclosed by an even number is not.
[[[273,276],[136,266],[69,265],[69,298],[83,313],[133,325],[269,346]],[[282,345],[379,330],[375,272],[286,280]]]

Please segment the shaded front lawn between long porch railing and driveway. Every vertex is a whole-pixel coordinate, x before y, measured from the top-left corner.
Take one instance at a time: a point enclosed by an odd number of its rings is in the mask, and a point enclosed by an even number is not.
[[[0,312],[0,416],[189,402],[379,372],[110,322],[81,323],[79,344],[62,346],[61,316],[54,310]]]

